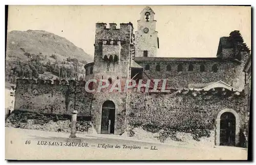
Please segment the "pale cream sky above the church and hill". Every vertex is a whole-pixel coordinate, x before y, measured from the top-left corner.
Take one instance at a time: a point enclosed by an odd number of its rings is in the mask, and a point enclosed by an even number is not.
[[[9,6],[7,31],[44,30],[94,54],[95,23],[132,22],[145,6]],[[220,37],[239,30],[251,49],[251,8],[150,6],[159,37],[157,57],[216,57]]]

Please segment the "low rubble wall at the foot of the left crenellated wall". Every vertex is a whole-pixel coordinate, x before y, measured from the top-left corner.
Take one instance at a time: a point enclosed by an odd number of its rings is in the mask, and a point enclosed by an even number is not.
[[[77,133],[92,132],[90,117],[77,117]],[[71,115],[36,113],[29,111],[15,110],[6,121],[7,127],[22,129],[37,129],[53,132],[70,132]]]

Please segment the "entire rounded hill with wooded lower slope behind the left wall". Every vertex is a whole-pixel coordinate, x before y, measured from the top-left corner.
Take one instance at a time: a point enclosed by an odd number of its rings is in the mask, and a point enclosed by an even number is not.
[[[90,54],[67,39],[46,31],[7,34],[6,81],[16,78],[83,78]]]

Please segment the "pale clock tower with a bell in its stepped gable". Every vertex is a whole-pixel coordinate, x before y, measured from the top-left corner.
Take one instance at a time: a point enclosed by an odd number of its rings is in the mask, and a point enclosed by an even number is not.
[[[135,57],[156,57],[159,40],[156,31],[155,13],[145,7],[140,13],[138,29],[135,32]]]

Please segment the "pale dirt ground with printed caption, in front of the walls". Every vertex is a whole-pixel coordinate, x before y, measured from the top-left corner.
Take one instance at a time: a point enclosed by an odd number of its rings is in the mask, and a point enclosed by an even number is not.
[[[6,127],[6,159],[26,160],[246,160],[237,147],[185,147],[135,141],[129,137],[48,132]],[[68,146],[71,143],[77,146]],[[47,143],[47,144],[46,144]],[[50,144],[49,144],[50,143]],[[46,145],[45,145],[46,144]],[[67,146],[59,146],[67,144]],[[80,147],[79,147],[80,144]],[[86,147],[81,147],[82,145]],[[87,144],[87,145],[84,145]],[[105,147],[102,147],[104,145]],[[108,146],[108,147],[107,147]],[[113,148],[111,148],[113,146]],[[119,146],[119,147],[118,147]],[[132,146],[132,147],[130,147]]]

